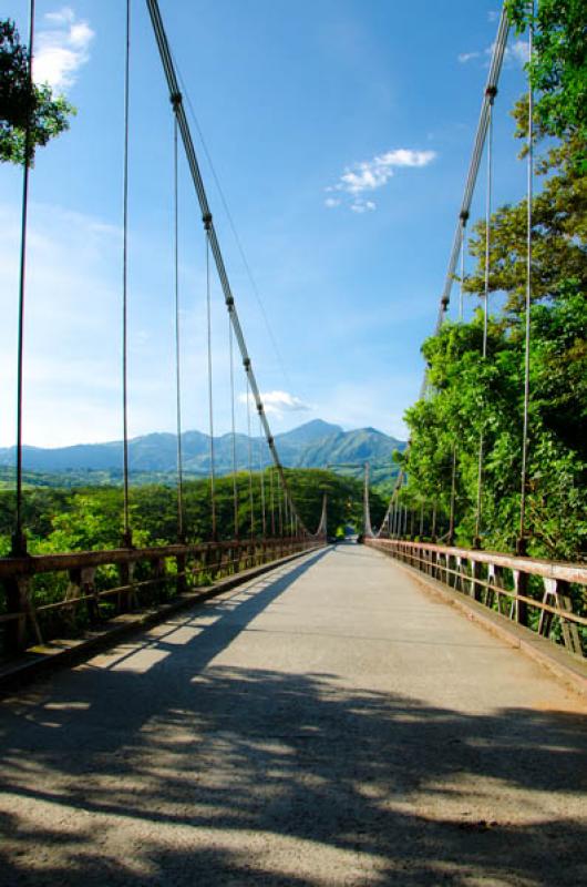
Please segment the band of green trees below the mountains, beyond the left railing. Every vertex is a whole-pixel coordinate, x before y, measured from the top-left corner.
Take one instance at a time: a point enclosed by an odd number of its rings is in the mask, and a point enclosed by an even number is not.
[[[274,526],[279,532],[276,473],[272,472]],[[323,493],[328,496],[329,531],[351,523],[362,526],[362,483],[320,469],[287,469],[288,485],[305,524],[315,532],[320,522]],[[253,475],[253,529],[261,532],[260,475]],[[271,477],[264,472],[267,534],[271,530]],[[251,531],[248,473],[237,475],[238,530],[243,538]],[[212,536],[209,481],[188,480],[184,485],[184,524],[187,541]],[[132,490],[133,540],[148,546],[177,541],[177,493],[172,487],[145,485]],[[13,530],[14,496],[0,491],[0,554],[10,550]],[[222,538],[234,537],[233,477],[216,481],[217,522]],[[381,521],[385,500],[372,493],[373,521]],[[30,488],[24,497],[24,526],[31,553],[83,551],[115,548],[122,538],[122,490],[119,487],[76,489]],[[284,520],[284,510],[281,510]]]

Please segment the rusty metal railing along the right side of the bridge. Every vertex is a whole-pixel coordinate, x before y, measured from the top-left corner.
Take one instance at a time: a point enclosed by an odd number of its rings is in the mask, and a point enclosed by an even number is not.
[[[587,565],[397,539],[364,542],[585,657]]]

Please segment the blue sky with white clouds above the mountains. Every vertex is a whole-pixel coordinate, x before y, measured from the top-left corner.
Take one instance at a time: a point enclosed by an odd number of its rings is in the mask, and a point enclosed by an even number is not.
[[[500,4],[485,0],[161,0],[209,163],[203,175],[274,431],[322,418],[404,437],[433,328]],[[24,37],[28,2],[3,14]],[[24,439],[121,437],[124,3],[38,0],[37,75],[76,105],[31,176]],[[495,120],[495,202],[517,200],[511,38]],[[133,3],[130,434],[174,430],[173,120]],[[181,163],[184,428],[207,428],[205,243]],[[14,439],[21,172],[0,167],[0,445]],[[481,183],[476,217],[483,213]],[[213,284],[215,426],[229,429],[227,319]],[[453,316],[456,308],[453,295]],[[467,308],[471,309],[472,306]],[[238,371],[239,392],[244,377]],[[240,398],[243,401],[243,398]],[[238,422],[245,428],[245,406]]]

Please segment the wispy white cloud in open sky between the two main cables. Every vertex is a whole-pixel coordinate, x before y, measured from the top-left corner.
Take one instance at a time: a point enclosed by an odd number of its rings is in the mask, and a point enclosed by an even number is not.
[[[326,198],[325,205],[330,208],[340,206],[343,203],[342,196],[332,196],[338,193],[348,195],[346,203],[350,204],[350,208],[354,213],[372,211],[377,204],[360,195],[387,185],[397,169],[428,166],[435,156],[434,151],[412,151],[406,147],[398,147],[387,151],[384,154],[377,154],[372,160],[353,163],[351,166],[347,166],[336,185],[326,188],[331,196]]]

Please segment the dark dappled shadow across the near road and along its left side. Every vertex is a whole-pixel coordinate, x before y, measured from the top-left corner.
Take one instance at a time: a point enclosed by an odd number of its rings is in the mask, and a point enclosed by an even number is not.
[[[178,620],[199,633],[156,638],[145,672],[80,669],[0,706],[7,887],[585,880],[579,715],[213,661],[305,569]]]

